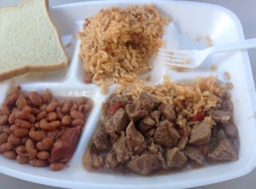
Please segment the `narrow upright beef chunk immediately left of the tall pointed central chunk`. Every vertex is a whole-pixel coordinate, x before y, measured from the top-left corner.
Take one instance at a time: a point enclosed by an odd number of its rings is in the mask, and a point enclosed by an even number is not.
[[[129,151],[125,144],[125,132],[122,132],[119,139],[113,143],[113,150],[116,153],[117,160],[120,163],[127,161],[129,157]]]

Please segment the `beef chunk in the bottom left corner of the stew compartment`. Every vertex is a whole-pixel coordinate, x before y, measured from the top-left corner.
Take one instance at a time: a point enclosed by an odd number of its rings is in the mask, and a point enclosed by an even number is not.
[[[92,146],[85,152],[83,157],[84,166],[90,170],[102,169],[104,166],[104,159],[101,155],[96,154],[93,148],[94,147]]]

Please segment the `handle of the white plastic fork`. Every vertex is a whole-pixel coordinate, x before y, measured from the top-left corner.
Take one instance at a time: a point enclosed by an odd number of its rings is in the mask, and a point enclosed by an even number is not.
[[[243,41],[228,43],[223,45],[212,46],[207,48],[207,51],[211,53],[224,52],[229,50],[237,50],[237,49],[253,49],[256,48],[256,38],[246,39]]]

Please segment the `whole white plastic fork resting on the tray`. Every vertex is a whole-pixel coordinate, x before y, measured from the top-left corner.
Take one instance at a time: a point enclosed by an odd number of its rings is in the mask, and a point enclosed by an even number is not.
[[[256,38],[216,45],[203,50],[168,50],[159,49],[159,58],[168,66],[194,68],[200,66],[208,55],[238,49],[256,48]]]

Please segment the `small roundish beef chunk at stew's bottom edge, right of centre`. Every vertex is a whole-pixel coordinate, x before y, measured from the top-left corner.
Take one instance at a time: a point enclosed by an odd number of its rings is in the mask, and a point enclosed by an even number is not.
[[[169,168],[182,168],[188,162],[188,158],[177,147],[166,150],[166,165]]]

